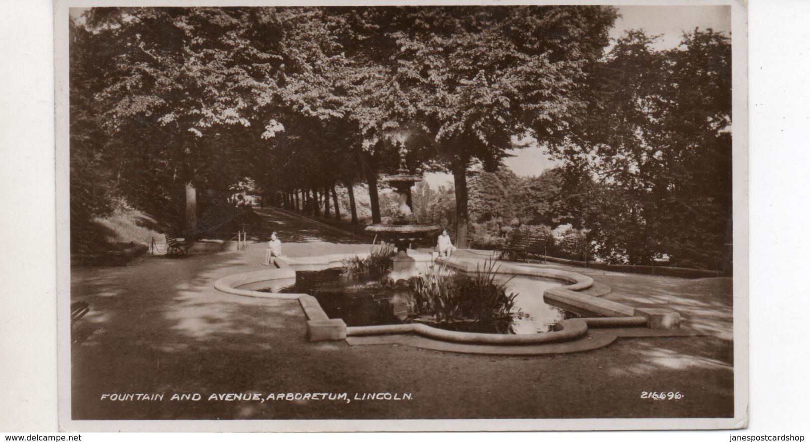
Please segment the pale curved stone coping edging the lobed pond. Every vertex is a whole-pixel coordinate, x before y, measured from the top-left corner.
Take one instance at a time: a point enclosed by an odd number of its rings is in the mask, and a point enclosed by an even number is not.
[[[279,258],[275,266],[266,270],[256,270],[220,278],[214,283],[219,291],[233,295],[251,296],[279,300],[298,300],[307,317],[307,334],[311,341],[344,340],[347,337],[364,337],[379,335],[418,335],[423,338],[445,342],[459,342],[483,345],[537,345],[552,342],[567,342],[584,338],[590,328],[604,327],[638,327],[648,325],[649,314],[637,312],[635,308],[592,295],[578,293],[593,285],[593,279],[575,272],[551,268],[527,268],[525,266],[501,265],[499,273],[554,278],[569,285],[553,287],[544,292],[544,298],[550,298],[557,304],[572,305],[580,311],[593,312],[606,317],[573,318],[561,322],[561,329],[539,334],[482,334],[437,329],[424,324],[369,325],[347,327],[339,318],[331,319],[323,312],[321,305],[313,296],[305,293],[265,293],[250,290],[251,284],[266,283],[273,280],[295,278],[292,265],[303,268],[338,267],[345,257],[368,256],[368,253],[340,253],[318,257]],[[432,261],[433,257],[425,253],[412,253],[416,261]],[[437,258],[437,262],[454,270],[475,272],[480,267],[479,261],[466,258]],[[267,285],[267,284],[264,284]],[[607,313],[607,314],[605,314]],[[646,312],[645,312],[646,313]],[[677,315],[677,313],[675,313]],[[680,324],[680,319],[678,321]]]

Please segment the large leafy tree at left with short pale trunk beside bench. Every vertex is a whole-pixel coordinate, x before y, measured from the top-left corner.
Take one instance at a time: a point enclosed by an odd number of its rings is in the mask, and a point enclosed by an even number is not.
[[[235,168],[241,160],[210,155],[217,130],[249,126],[260,104],[253,99],[275,87],[279,45],[273,32],[261,32],[268,26],[255,12],[92,8],[86,13],[104,78],[95,104],[103,109],[109,145],[123,164],[137,159],[127,147],[141,144],[151,166],[143,170],[163,176],[164,189],[173,181],[185,183],[186,230],[192,234],[196,189],[210,178],[202,171],[228,160]]]

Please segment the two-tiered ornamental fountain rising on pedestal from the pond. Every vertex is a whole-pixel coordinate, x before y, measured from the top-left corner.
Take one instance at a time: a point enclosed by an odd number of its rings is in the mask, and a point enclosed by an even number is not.
[[[438,232],[441,228],[434,224],[416,224],[411,223],[413,214],[413,202],[411,202],[411,187],[419,181],[422,181],[420,176],[411,175],[407,168],[406,155],[407,149],[401,140],[395,144],[399,151],[399,169],[396,175],[383,177],[382,181],[390,184],[395,192],[398,194],[399,200],[399,215],[390,224],[372,224],[365,227],[366,232],[374,232],[381,237],[382,240],[394,244],[397,248],[397,254],[391,258],[393,266],[391,269],[390,277],[394,281],[398,279],[407,279],[411,276],[416,276],[416,260],[407,255],[408,245],[422,240],[425,237]]]

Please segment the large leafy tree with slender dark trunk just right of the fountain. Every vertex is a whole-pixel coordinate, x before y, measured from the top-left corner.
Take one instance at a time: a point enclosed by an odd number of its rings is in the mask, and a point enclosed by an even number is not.
[[[586,105],[582,89],[616,19],[602,6],[403,9],[389,94],[399,121],[416,121],[453,173],[457,244],[467,245],[467,169],[492,171],[531,134],[562,137]],[[407,24],[401,24],[407,23]]]

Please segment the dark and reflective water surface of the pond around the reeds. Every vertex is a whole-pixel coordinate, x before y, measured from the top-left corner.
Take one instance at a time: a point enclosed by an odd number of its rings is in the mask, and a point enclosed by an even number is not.
[[[390,325],[412,322],[407,300],[407,286],[382,287],[377,279],[347,280],[341,269],[297,271],[296,283],[279,289],[281,293],[309,293],[318,299],[330,318],[341,318],[348,326]],[[499,276],[501,281],[509,277]],[[478,333],[535,334],[551,331],[561,320],[577,317],[561,308],[544,303],[543,291],[562,284],[553,279],[516,276],[509,280],[507,293],[518,293],[516,308],[520,314],[511,321],[482,324],[480,322],[454,322],[431,324],[444,329]]]

